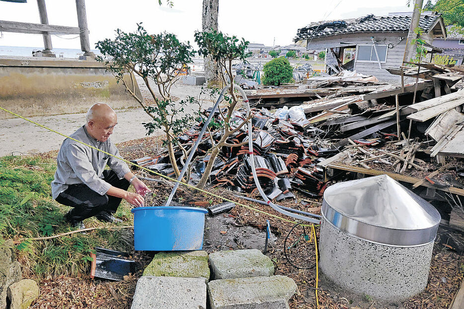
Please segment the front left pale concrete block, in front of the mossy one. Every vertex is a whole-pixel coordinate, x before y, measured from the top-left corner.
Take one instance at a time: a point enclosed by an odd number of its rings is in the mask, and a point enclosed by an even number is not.
[[[204,278],[141,277],[131,309],[206,309]]]

